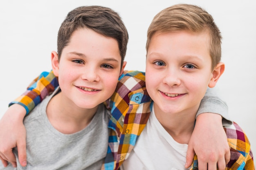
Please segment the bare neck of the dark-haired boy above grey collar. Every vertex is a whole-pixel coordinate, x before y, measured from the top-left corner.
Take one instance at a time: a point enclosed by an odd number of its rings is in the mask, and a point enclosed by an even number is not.
[[[98,106],[92,109],[82,109],[72,102],[65,102],[60,92],[49,101],[46,113],[56,130],[64,134],[72,134],[88,126],[97,109]]]

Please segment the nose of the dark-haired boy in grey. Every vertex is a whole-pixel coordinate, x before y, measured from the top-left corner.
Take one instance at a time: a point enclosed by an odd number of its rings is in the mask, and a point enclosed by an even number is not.
[[[89,82],[99,81],[99,71],[94,66],[86,66],[82,72],[82,79]]]

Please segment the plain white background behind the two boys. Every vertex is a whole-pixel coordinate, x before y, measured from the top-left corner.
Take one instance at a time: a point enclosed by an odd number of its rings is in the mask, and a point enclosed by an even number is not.
[[[226,70],[218,88],[256,155],[256,5],[251,0],[1,0],[0,117],[38,74],[51,70],[58,28],[75,7],[101,5],[117,11],[129,33],[126,70],[144,71],[147,28],[159,11],[177,3],[203,7],[219,26]]]

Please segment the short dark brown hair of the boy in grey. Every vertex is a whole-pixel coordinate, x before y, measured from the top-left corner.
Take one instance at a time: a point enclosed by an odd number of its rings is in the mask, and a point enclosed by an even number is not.
[[[70,42],[70,37],[79,28],[93,31],[117,40],[121,55],[121,66],[126,55],[128,32],[121,17],[110,8],[101,6],[78,7],[67,14],[58,31],[58,57],[63,48]]]

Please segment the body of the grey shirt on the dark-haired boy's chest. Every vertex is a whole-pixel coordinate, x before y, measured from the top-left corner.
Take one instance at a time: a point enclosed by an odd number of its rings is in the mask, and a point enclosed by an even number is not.
[[[58,89],[56,89],[58,90]],[[55,91],[56,93],[56,91]],[[85,129],[66,135],[60,133],[49,122],[46,107],[55,94],[43,100],[27,117],[27,170],[99,170],[108,149],[108,121],[110,111],[103,104]],[[0,169],[2,169],[2,163]],[[4,170],[13,170],[11,165]]]

